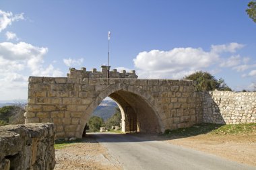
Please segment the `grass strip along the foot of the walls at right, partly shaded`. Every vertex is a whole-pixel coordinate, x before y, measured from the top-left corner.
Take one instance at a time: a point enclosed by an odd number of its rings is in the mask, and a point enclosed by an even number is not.
[[[199,134],[247,134],[256,132],[256,123],[251,124],[195,124],[190,128],[165,130],[164,136],[185,137]]]

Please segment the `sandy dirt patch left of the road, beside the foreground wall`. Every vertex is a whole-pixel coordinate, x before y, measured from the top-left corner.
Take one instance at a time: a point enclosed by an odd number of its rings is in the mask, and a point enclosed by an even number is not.
[[[122,169],[94,138],[86,138],[82,142],[67,144],[55,150],[55,160],[55,170]]]

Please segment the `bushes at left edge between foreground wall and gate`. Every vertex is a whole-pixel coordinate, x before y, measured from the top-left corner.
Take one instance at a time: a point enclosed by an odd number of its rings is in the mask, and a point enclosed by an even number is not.
[[[6,124],[24,124],[24,108],[22,104],[8,105],[0,108],[0,126]]]

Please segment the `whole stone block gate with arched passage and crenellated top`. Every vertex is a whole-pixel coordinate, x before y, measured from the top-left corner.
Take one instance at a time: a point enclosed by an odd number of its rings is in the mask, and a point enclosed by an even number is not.
[[[135,71],[70,69],[67,77],[30,77],[26,123],[53,122],[57,138],[81,138],[105,97],[121,109],[122,131],[164,132],[202,122],[193,81],[137,79]]]

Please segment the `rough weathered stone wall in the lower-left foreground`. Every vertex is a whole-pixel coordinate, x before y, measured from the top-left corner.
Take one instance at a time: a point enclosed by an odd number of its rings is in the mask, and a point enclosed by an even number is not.
[[[1,126],[0,169],[54,169],[54,139],[53,124]]]

